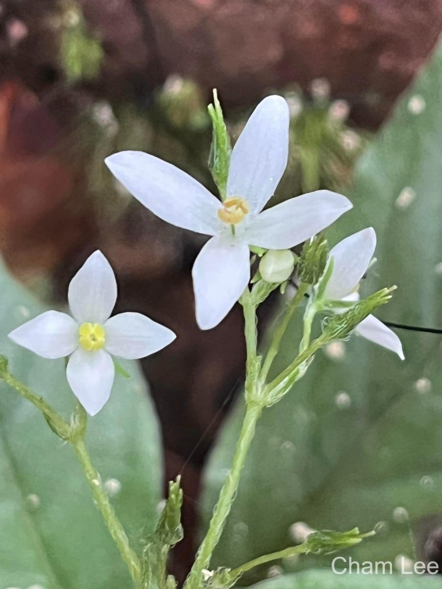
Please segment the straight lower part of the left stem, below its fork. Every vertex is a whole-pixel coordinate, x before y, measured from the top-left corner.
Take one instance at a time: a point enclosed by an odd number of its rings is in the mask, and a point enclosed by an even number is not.
[[[95,504],[98,509],[100,509],[101,515],[103,515],[103,519],[107,525],[107,529],[116,543],[121,557],[123,557],[124,562],[127,564],[132,580],[137,586],[141,578],[140,560],[130,547],[123,525],[121,525],[120,520],[117,518],[116,512],[110,504],[107,493],[104,491],[103,487],[101,487],[100,474],[98,474],[98,471],[94,468],[91,462],[84,441],[78,440],[72,442],[72,446],[91,487]]]

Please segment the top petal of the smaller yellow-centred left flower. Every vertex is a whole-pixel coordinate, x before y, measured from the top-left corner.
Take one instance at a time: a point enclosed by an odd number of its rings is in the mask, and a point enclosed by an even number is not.
[[[78,323],[104,323],[110,317],[117,300],[117,281],[101,252],[89,256],[72,278],[68,300]]]

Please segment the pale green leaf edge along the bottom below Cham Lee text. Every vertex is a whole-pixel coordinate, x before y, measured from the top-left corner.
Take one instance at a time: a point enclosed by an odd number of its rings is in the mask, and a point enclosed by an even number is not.
[[[282,575],[253,585],[253,589],[440,589],[442,580],[430,575],[372,574],[337,575],[330,570],[312,570]]]

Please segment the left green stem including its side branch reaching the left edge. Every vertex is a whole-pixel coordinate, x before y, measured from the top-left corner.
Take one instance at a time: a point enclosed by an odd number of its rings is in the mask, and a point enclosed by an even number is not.
[[[126,532],[117,518],[117,515],[109,502],[109,498],[100,484],[100,475],[91,463],[90,456],[84,445],[83,436],[85,431],[85,417],[84,421],[79,425],[65,421],[61,415],[55,411],[46,401],[41,397],[35,395],[28,386],[14,378],[9,371],[1,370],[0,378],[2,378],[9,386],[17,391],[22,397],[30,401],[39,411],[44,415],[48,425],[55,434],[61,439],[69,442],[74,448],[75,454],[83,467],[84,474],[92,489],[95,504],[100,509],[103,515],[107,529],[110,532],[114,542],[116,542],[121,557],[126,562],[131,577],[136,584],[140,581],[141,566],[137,555],[129,545]],[[78,412],[76,413],[78,415]]]

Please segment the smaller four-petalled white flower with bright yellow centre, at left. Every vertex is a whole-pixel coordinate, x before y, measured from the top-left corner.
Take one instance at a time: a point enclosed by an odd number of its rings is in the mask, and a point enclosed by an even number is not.
[[[144,358],[169,345],[175,334],[140,313],[110,317],[117,300],[114,272],[94,252],[72,278],[68,290],[73,318],[47,311],[17,327],[9,337],[43,358],[70,356],[66,376],[90,415],[107,402],[114,382],[112,356]]]

